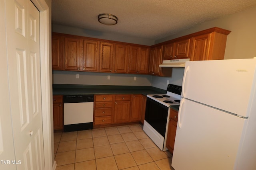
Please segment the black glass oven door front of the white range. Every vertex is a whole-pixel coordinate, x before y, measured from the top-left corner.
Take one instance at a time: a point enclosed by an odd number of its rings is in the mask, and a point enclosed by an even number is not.
[[[145,120],[165,137],[169,107],[147,98]]]

